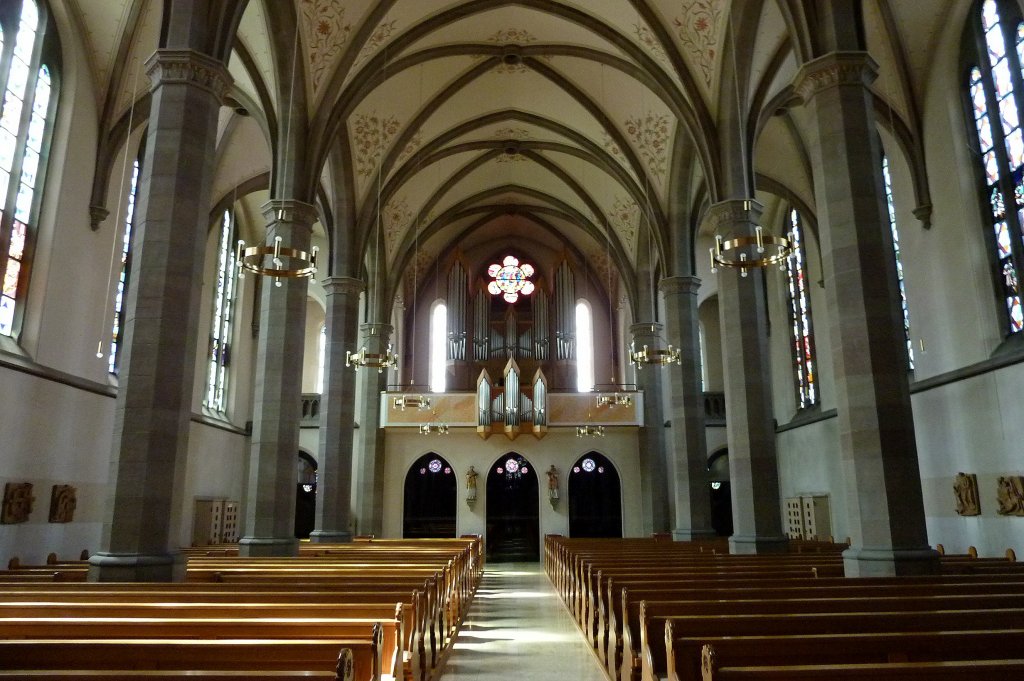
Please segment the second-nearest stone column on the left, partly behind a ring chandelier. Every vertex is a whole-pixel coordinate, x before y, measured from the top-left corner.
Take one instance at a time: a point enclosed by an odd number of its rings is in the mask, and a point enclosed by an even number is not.
[[[287,248],[309,250],[315,207],[290,199],[263,206],[266,241],[282,238]],[[278,286],[278,284],[281,286]],[[253,435],[244,509],[243,556],[298,553],[295,494],[298,479],[299,420],[302,415],[302,355],[306,292],[303,278],[267,278],[260,296],[260,335],[253,387]]]

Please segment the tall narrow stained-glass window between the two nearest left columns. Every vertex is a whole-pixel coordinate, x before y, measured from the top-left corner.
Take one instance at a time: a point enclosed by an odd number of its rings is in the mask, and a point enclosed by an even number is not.
[[[209,369],[204,399],[206,408],[218,414],[227,411],[227,369],[231,363],[234,286],[238,282],[233,248],[237,241],[234,220],[231,213],[225,210],[217,242],[217,286],[213,292],[213,322],[210,325]]]

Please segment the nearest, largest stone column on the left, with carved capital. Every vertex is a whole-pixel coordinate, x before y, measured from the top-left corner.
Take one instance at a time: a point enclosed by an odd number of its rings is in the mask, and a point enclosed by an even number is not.
[[[89,580],[179,577],[178,544],[210,187],[220,101],[231,82],[220,61],[160,49],[138,190],[111,493]]]

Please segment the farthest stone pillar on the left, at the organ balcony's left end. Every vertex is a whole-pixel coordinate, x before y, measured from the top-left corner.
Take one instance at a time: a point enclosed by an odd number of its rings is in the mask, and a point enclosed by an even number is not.
[[[367,352],[384,353],[393,332],[390,324],[364,324],[359,327],[359,347],[366,347]],[[380,537],[384,526],[384,429],[380,427],[380,409],[381,391],[387,388],[387,372],[370,368],[356,371],[356,389],[362,395],[362,406],[352,465],[355,530]]]

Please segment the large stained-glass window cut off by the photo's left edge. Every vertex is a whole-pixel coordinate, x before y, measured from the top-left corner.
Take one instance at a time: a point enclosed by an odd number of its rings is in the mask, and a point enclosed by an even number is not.
[[[56,109],[55,32],[35,0],[0,5],[0,335],[20,330]]]

